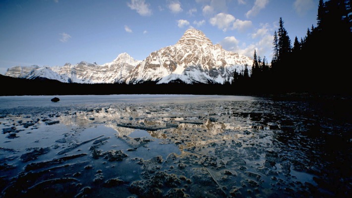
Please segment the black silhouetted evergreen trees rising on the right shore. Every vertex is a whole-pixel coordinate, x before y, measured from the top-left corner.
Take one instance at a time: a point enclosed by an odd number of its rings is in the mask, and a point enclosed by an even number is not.
[[[282,18],[271,64],[254,51],[250,76],[235,71],[233,86],[252,93],[351,93],[352,0],[319,1],[317,27],[292,41]]]

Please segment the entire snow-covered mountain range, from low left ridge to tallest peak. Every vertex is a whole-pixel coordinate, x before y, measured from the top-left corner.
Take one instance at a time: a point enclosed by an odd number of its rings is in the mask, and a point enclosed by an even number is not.
[[[90,84],[137,84],[146,81],[157,84],[223,84],[232,80],[235,70],[242,71],[246,65],[251,70],[252,62],[248,56],[213,45],[203,32],[192,28],[186,30],[175,45],[153,51],[142,61],[121,53],[115,60],[103,65],[82,61],[53,67],[14,66],[7,70],[5,76]]]

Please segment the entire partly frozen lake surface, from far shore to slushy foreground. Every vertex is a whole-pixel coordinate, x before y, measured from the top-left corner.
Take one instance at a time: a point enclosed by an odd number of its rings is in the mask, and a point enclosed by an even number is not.
[[[307,102],[0,97],[1,197],[347,197],[351,123]]]

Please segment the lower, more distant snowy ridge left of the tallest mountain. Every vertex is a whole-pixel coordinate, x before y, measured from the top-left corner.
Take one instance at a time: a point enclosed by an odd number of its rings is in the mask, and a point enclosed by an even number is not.
[[[133,59],[127,53],[121,53],[109,63],[98,65],[81,61],[75,65],[66,63],[55,67],[11,67],[5,76],[35,79],[38,77],[74,83],[115,83],[128,75],[140,61]]]

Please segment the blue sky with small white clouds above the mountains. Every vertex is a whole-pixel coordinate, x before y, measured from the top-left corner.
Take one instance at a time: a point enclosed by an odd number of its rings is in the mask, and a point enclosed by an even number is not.
[[[319,0],[0,0],[0,74],[12,66],[143,60],[196,28],[224,49],[271,60],[279,18],[293,42]]]

